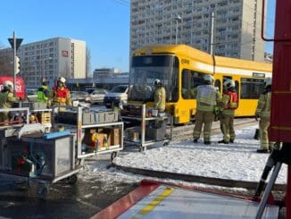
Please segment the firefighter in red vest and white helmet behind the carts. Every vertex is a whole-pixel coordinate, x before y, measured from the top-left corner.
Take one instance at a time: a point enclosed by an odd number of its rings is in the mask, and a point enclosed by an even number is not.
[[[69,88],[65,86],[66,80],[61,77],[57,81],[57,86],[53,87],[53,105],[71,105],[71,94]],[[65,108],[60,108],[64,111]]]

